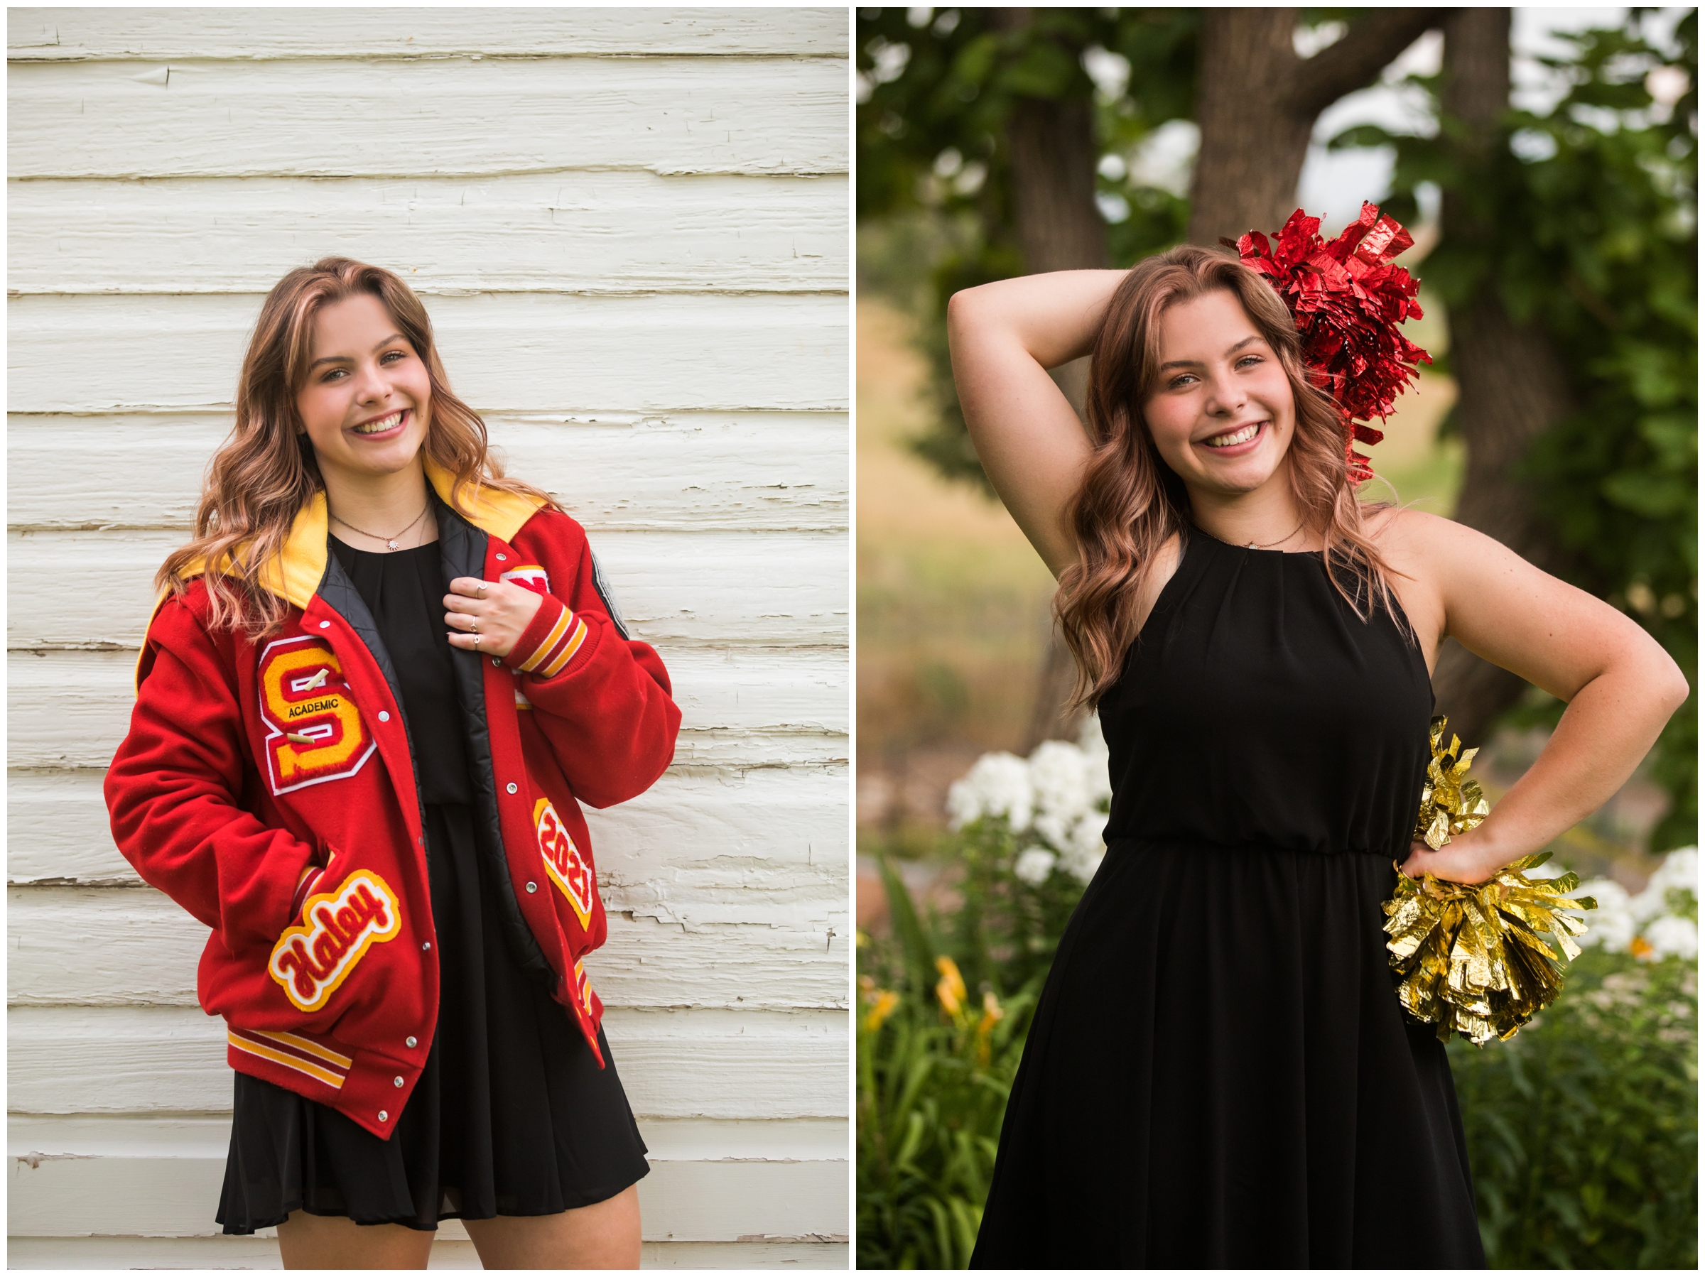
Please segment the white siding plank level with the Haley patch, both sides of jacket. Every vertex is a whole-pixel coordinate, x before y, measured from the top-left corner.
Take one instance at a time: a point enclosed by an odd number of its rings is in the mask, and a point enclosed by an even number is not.
[[[760,922],[696,921],[689,931],[612,910],[607,943],[587,958],[592,984],[609,1006],[629,1009],[846,1006],[844,864],[842,854],[841,873],[825,866],[805,888],[798,873],[774,875],[779,881],[769,885],[748,871],[755,881],[737,909]],[[702,899],[711,893],[672,893],[685,914],[714,912],[720,904]],[[208,929],[164,893],[14,887],[7,904],[12,1006],[196,1006]],[[89,936],[102,939],[90,945]]]

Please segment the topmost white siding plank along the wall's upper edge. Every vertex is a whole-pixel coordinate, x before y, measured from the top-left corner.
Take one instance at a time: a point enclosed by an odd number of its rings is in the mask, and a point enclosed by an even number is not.
[[[334,24],[336,41],[329,41]],[[7,58],[847,55],[844,9],[9,9]]]

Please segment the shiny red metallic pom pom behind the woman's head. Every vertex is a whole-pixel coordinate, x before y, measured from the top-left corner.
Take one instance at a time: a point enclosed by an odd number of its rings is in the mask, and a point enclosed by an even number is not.
[[[1279,232],[1277,246],[1251,230],[1236,242],[1245,266],[1267,276],[1303,336],[1303,361],[1316,375],[1344,418],[1344,460],[1352,482],[1373,477],[1357,443],[1378,443],[1384,433],[1373,418],[1391,414],[1393,401],[1415,382],[1417,367],[1432,363],[1396,326],[1420,319],[1415,292],[1420,283],[1391,259],[1413,246],[1413,237],[1378,205],[1326,244],[1320,218],[1296,210]],[[1228,240],[1229,242],[1229,240]]]

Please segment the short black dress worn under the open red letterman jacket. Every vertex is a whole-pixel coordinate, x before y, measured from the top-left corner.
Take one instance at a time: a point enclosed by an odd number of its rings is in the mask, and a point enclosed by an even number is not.
[[[481,885],[440,547],[370,554],[331,539],[331,552],[402,685],[426,810],[438,1028],[390,1139],[239,1072],[217,1219],[225,1233],[292,1211],[433,1229],[602,1202],[646,1173],[646,1147],[602,1031],[598,1069],[569,1013],[512,956]]]

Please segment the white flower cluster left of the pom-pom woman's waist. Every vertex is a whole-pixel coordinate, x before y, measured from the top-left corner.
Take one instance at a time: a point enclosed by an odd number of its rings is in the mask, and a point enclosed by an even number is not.
[[[1033,835],[1013,861],[1013,873],[1032,887],[1045,883],[1055,866],[1086,883],[1107,852],[1101,829],[1112,798],[1107,742],[1091,716],[1076,745],[1045,740],[1028,760],[984,754],[948,788],[948,817],[953,829],[996,818],[1016,835]]]

